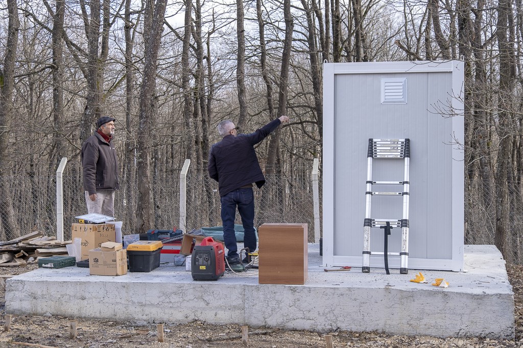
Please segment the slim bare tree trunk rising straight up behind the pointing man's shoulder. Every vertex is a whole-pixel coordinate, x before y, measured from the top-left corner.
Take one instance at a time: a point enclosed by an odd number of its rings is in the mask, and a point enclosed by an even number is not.
[[[240,128],[245,127],[247,119],[247,102],[245,100],[245,28],[243,21],[243,0],[236,0],[236,35],[238,38],[236,84],[238,86],[238,103],[240,105],[240,117],[238,117],[237,126]]]

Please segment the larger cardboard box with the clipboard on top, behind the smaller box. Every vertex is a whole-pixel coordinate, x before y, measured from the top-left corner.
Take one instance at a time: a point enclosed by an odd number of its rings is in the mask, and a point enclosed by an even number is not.
[[[102,243],[116,242],[114,224],[73,223],[71,226],[72,241],[82,239],[82,260],[89,258],[89,250],[99,248]]]

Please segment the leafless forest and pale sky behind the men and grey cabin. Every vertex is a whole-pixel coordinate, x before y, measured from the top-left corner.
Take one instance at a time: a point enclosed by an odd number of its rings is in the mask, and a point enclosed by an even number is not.
[[[292,121],[257,147],[256,223],[311,226],[323,62],[462,59],[465,244],[523,260],[521,0],[0,4],[2,240],[54,234],[63,157],[65,226],[85,213],[79,153],[100,115],[117,119],[125,234],[177,224],[186,159],[187,229],[220,225],[206,169],[215,126],[230,118],[250,133],[280,115]]]

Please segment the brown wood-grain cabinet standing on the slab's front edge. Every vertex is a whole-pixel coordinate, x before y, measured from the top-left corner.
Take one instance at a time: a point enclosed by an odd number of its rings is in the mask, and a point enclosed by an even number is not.
[[[306,223],[264,223],[259,227],[259,284],[305,284],[307,233]]]

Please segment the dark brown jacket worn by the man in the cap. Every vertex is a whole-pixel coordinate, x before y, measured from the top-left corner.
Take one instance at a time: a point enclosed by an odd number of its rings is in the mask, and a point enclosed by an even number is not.
[[[97,189],[118,189],[118,159],[113,142],[95,132],[82,146],[84,190],[89,195]]]

